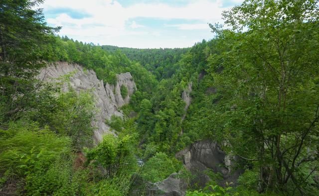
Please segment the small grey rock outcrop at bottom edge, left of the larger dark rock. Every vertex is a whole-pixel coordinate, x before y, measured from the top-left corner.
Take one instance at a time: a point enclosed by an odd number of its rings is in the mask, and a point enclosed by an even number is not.
[[[177,173],[172,173],[165,180],[150,185],[148,195],[152,196],[184,196],[187,183],[179,178]]]

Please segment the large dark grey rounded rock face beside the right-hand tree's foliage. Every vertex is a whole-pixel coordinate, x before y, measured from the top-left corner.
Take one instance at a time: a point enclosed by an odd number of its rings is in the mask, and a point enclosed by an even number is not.
[[[238,169],[232,171],[237,159],[235,156],[227,155],[216,142],[209,140],[192,144],[178,152],[176,158],[182,160],[185,168],[195,176],[190,184],[197,183],[201,187],[210,181],[209,176],[205,174],[208,169],[221,174],[222,180],[219,181],[221,186],[224,186],[226,182],[236,184],[242,172]]]

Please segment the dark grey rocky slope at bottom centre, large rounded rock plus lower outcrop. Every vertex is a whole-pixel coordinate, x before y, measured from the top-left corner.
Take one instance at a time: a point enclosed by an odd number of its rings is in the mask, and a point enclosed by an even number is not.
[[[148,195],[185,196],[187,187],[203,188],[211,180],[216,180],[223,187],[226,182],[236,186],[237,179],[243,172],[241,167],[238,167],[236,156],[226,154],[216,142],[210,140],[198,141],[176,153],[175,157],[182,161],[184,168],[191,173],[190,181],[173,173],[161,182],[150,183],[147,188]],[[211,179],[209,171],[220,174],[220,178]]]

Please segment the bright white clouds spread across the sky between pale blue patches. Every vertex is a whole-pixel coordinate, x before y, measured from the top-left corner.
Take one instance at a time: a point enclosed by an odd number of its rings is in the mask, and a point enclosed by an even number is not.
[[[185,3],[183,6],[173,6],[167,3],[136,3],[127,7],[122,6],[116,0],[45,0],[41,5],[44,10],[54,8],[70,8],[73,10],[82,11],[88,17],[82,19],[74,19],[69,15],[62,13],[55,18],[47,18],[50,25],[62,26],[60,35],[67,35],[74,39],[79,39],[85,42],[94,42],[100,44],[114,44],[114,40],[125,39],[124,36],[164,36],[161,33],[148,33],[141,31],[132,31],[145,27],[145,25],[138,24],[134,18],[157,18],[157,19],[184,19],[196,20],[197,24],[174,24],[167,25],[175,27],[179,30],[193,30],[193,29],[207,29],[209,27],[207,22],[216,22],[221,18],[221,12],[225,9],[221,7],[220,0],[195,0]],[[132,21],[128,23],[128,21]],[[128,28],[131,27],[131,28]],[[178,35],[179,36],[179,35]],[[204,37],[198,37],[198,40]],[[171,44],[176,44],[176,47],[184,47],[185,40],[172,39],[154,42],[154,47],[169,47]],[[150,43],[146,41],[135,42],[130,39],[134,45],[132,47],[145,47]],[[187,44],[193,44],[189,41]],[[116,43],[115,43],[116,44]],[[158,45],[156,45],[158,44]],[[118,45],[118,44],[117,44]],[[165,46],[164,46],[165,45]],[[190,45],[188,45],[190,46]]]

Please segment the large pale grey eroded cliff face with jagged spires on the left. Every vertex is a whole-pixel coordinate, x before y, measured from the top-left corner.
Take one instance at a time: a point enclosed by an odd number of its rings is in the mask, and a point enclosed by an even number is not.
[[[70,80],[63,85],[63,91],[68,91],[69,87],[79,92],[81,90],[90,90],[95,97],[95,104],[98,108],[96,113],[96,121],[93,126],[97,129],[94,131],[95,142],[102,140],[106,133],[113,133],[110,127],[105,124],[106,119],[110,119],[112,115],[123,116],[119,110],[124,104],[129,103],[130,97],[136,90],[136,85],[130,73],[117,74],[116,85],[106,84],[96,77],[93,70],[86,70],[85,68],[67,62],[57,62],[49,65],[41,70],[39,79],[44,81],[62,81],[63,76],[70,75]],[[124,85],[128,89],[128,96],[122,98],[121,86]],[[114,134],[114,133],[113,133]]]

